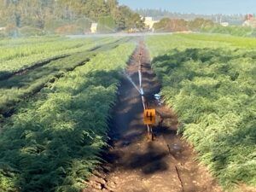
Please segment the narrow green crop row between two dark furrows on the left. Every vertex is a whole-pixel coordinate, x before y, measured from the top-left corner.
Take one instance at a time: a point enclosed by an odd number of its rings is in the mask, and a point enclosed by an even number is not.
[[[112,42],[115,40],[116,39],[113,38]],[[99,48],[99,51],[113,49],[114,45],[108,45],[106,41],[99,41],[96,44],[102,46]],[[87,49],[92,49],[96,45],[87,44],[85,46],[87,46]],[[49,63],[42,67],[35,67],[32,70],[26,71],[26,73],[0,80],[0,115],[8,116],[10,112],[12,113],[17,102],[32,96],[34,93],[38,92],[38,90],[42,89],[47,82],[54,81],[67,71],[72,71],[84,61],[89,61],[98,51],[98,49],[95,51],[77,49],[77,51],[78,50],[79,53],[74,53],[56,61],[49,61]]]

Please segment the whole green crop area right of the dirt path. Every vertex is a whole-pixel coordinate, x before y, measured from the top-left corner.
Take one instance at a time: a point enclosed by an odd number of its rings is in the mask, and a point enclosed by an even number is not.
[[[146,42],[161,94],[201,162],[224,189],[255,187],[255,38],[175,34]]]

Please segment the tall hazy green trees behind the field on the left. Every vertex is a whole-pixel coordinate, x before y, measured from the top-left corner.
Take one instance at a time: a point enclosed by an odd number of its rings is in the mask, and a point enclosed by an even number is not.
[[[117,0],[0,0],[0,27],[88,31],[92,22],[102,31],[143,28],[141,16]]]

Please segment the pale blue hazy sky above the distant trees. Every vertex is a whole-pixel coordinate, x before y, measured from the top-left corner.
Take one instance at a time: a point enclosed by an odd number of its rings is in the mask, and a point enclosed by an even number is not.
[[[132,9],[168,9],[172,12],[195,14],[256,13],[256,0],[119,0]]]

